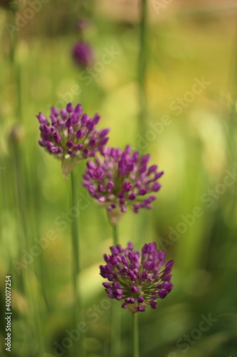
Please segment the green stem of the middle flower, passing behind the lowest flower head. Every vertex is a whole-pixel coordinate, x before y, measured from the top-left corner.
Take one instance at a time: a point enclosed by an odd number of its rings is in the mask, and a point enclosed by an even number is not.
[[[117,246],[119,242],[117,226],[112,226],[113,243]],[[121,356],[121,311],[120,306],[117,306],[117,301],[112,301],[112,316],[111,316],[111,346],[110,357]]]

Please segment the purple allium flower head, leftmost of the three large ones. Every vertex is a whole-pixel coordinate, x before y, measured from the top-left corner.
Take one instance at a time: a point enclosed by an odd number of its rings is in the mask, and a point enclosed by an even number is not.
[[[61,111],[52,107],[51,123],[42,113],[39,113],[37,118],[41,124],[41,140],[38,143],[49,154],[62,161],[64,177],[73,170],[78,161],[102,151],[109,140],[107,134],[110,129],[95,129],[100,115],[95,114],[94,118],[90,119],[88,114],[83,114],[80,104],[73,108],[73,104],[68,103]]]

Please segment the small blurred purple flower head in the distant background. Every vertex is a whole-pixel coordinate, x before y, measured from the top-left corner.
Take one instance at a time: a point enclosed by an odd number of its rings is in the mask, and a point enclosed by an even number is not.
[[[81,67],[88,67],[93,63],[93,50],[91,46],[83,41],[73,46],[73,59]]]

